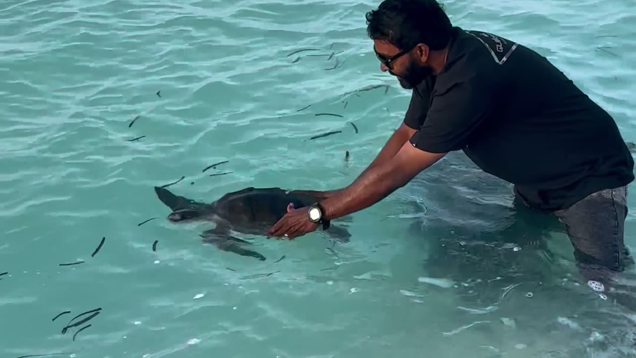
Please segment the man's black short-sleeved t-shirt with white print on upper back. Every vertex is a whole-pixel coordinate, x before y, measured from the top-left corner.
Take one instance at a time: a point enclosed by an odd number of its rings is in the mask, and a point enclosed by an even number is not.
[[[567,208],[634,179],[614,119],[542,55],[487,32],[453,28],[446,64],[413,89],[410,143],[464,150],[536,208]]]

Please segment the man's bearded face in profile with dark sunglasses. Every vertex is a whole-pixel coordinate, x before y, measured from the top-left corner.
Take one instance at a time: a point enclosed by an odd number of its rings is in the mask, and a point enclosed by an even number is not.
[[[400,50],[386,41],[373,40],[373,50],[380,60],[380,70],[396,76],[404,89],[412,89],[432,74],[431,67],[413,55],[417,48]]]

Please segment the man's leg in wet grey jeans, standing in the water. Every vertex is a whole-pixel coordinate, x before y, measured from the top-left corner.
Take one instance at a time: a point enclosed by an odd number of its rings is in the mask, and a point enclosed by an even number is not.
[[[595,192],[554,213],[565,224],[581,275],[591,289],[607,297],[616,275],[633,264],[623,244],[626,187]]]

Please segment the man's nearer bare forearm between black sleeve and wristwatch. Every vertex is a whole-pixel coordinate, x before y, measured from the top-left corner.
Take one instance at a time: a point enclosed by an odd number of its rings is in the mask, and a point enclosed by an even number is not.
[[[404,143],[390,160],[380,162],[359,176],[351,185],[320,202],[324,218],[349,215],[381,201],[392,192],[439,161],[446,153],[424,152],[411,143]]]

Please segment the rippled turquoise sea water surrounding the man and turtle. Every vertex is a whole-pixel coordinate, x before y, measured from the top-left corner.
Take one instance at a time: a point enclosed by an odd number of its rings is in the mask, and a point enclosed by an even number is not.
[[[261,262],[202,245],[209,225],[165,220],[153,186],[182,176],[170,190],[204,201],[248,186],[335,189],[356,178],[410,96],[380,72],[366,37],[364,13],[377,4],[4,0],[1,355],[636,354],[635,316],[584,287],[567,237],[512,224],[509,186],[461,153],[352,215],[347,244],[332,247],[319,233],[256,238]],[[636,140],[631,1],[445,5],[455,25],[546,55]],[[301,48],[319,50],[287,55]],[[389,89],[352,93],[373,85]],[[324,112],[343,117],[315,116]],[[342,133],[304,141],[328,131]],[[556,258],[545,258],[541,236]],[[493,240],[506,245],[479,245]],[[472,254],[453,255],[462,250]],[[60,334],[95,308],[75,341],[79,327]],[[63,311],[71,313],[52,320]]]

